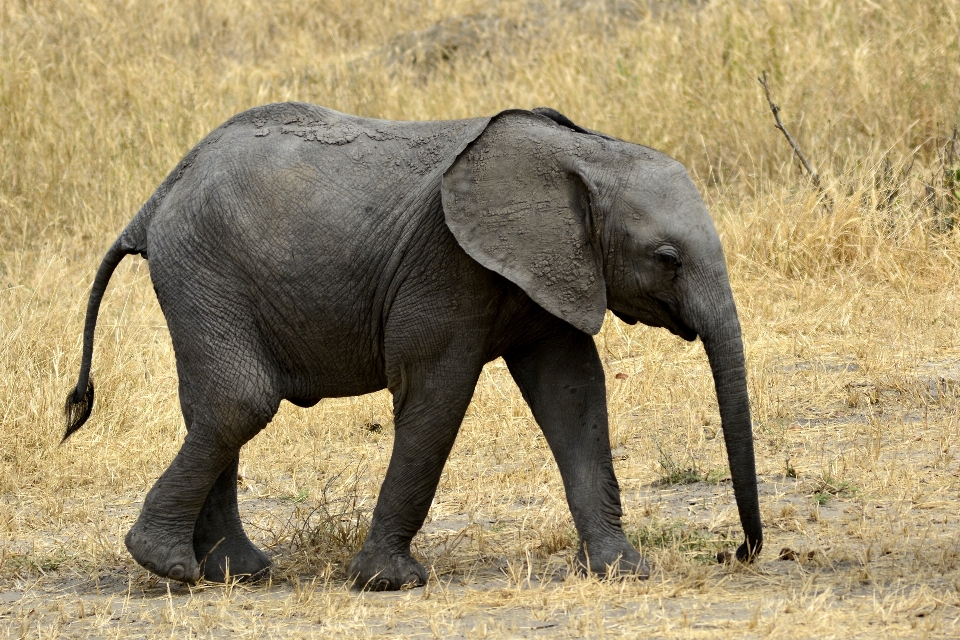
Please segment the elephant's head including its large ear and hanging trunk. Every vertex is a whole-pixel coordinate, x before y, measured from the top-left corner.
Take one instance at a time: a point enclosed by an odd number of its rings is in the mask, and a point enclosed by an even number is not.
[[[746,534],[737,557],[758,554],[740,322],[720,238],[683,166],[551,110],[505,111],[447,169],[441,195],[467,254],[578,329],[596,334],[610,309],[703,341]]]

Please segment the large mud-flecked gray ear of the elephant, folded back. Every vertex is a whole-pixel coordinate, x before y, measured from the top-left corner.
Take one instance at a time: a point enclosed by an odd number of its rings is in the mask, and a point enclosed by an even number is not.
[[[443,175],[447,227],[467,254],[595,334],[607,307],[584,157],[592,136],[529,111],[491,118]]]

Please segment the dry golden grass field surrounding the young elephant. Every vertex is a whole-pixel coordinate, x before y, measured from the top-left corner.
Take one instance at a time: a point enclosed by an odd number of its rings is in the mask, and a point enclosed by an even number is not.
[[[60,446],[90,284],[190,147],[281,100],[395,119],[546,105],[686,164],[744,327],[760,560],[715,560],[742,532],[701,345],[610,317],[614,464],[650,580],[570,573],[559,474],[500,362],[415,540],[426,588],[344,578],[388,461],[386,392],[285,404],[245,447],[270,582],[137,566],[123,535],[184,435],[174,358],[128,259],[93,418]],[[960,636],[957,126],[957,0],[4,0],[0,637]]]

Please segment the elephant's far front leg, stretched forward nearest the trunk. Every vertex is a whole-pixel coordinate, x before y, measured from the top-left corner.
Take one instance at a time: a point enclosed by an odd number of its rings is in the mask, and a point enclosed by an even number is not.
[[[621,525],[603,367],[593,339],[570,327],[504,359],[560,468],[580,534],[578,567],[649,577],[649,566]]]

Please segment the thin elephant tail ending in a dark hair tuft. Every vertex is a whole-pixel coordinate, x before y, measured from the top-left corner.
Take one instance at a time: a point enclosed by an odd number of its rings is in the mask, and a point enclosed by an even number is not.
[[[100,310],[100,301],[103,300],[103,293],[107,289],[107,283],[110,282],[110,276],[124,256],[131,253],[146,253],[145,238],[141,235],[140,242],[131,242],[134,240],[131,236],[140,234],[131,233],[134,231],[134,225],[120,235],[113,243],[107,255],[103,257],[100,268],[97,269],[97,275],[93,279],[93,289],[90,291],[90,299],[87,301],[87,316],[83,325],[83,357],[80,364],[80,379],[77,386],[67,394],[67,402],[64,405],[64,416],[67,421],[67,431],[63,434],[65,442],[70,435],[83,426],[83,423],[90,417],[93,410],[93,381],[90,379],[90,364],[93,360],[93,334],[97,326],[97,312]],[[138,246],[140,245],[140,246]],[[140,248],[140,247],[143,248]]]

